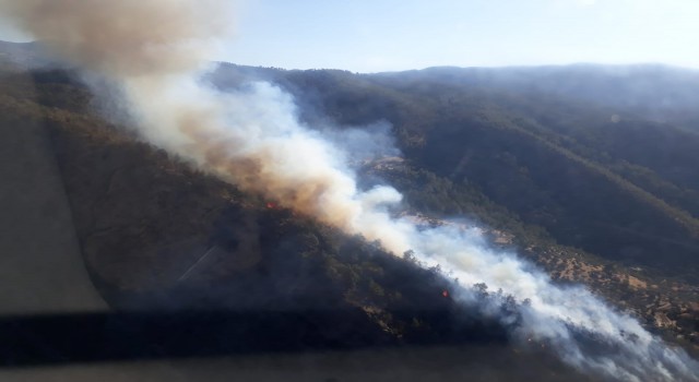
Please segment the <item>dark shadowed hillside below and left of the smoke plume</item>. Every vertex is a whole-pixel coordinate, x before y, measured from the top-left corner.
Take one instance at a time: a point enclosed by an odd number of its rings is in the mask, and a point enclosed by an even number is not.
[[[342,312],[379,343],[502,339],[493,324],[464,321],[439,273],[376,243],[269,208],[135,141],[54,139],[88,268],[114,307]]]

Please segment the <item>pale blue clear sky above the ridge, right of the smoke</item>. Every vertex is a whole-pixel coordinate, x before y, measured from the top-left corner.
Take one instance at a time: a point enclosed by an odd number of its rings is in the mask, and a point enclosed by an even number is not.
[[[213,59],[356,72],[573,62],[699,68],[699,0],[239,1],[237,37]]]

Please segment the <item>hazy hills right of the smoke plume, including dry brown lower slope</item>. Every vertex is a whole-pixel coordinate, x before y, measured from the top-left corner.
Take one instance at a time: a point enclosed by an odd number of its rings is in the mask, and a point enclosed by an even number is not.
[[[583,283],[699,349],[697,71],[222,64],[212,74],[222,88],[251,80],[289,92],[311,127],[387,120],[404,160],[365,169],[417,212],[490,227],[555,280]]]

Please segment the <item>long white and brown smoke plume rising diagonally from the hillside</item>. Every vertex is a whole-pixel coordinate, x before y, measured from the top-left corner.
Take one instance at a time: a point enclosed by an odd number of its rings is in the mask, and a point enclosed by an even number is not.
[[[414,250],[462,285],[485,283],[526,300],[514,335],[548,344],[581,370],[624,381],[699,381],[697,362],[682,350],[584,288],[556,286],[516,255],[489,249],[477,231],[392,218],[401,194],[386,186],[359,189],[346,151],[299,122],[293,99],[277,87],[250,83],[223,93],[204,85],[206,58],[229,35],[232,9],[224,3],[230,2],[0,0],[4,17],[55,55],[119,86],[139,133],[153,144],[242,190],[380,240],[395,254]],[[458,289],[454,298],[499,314],[497,301],[477,291]]]

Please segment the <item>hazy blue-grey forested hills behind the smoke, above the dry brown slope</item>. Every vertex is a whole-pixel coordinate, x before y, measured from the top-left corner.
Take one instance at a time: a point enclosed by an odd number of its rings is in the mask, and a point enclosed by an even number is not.
[[[580,65],[352,74],[223,65],[214,81],[225,87],[250,77],[292,92],[311,122],[318,115],[341,126],[390,121],[411,164],[560,243],[697,280],[697,72]],[[442,216],[467,213],[449,200],[437,204],[430,202]]]

